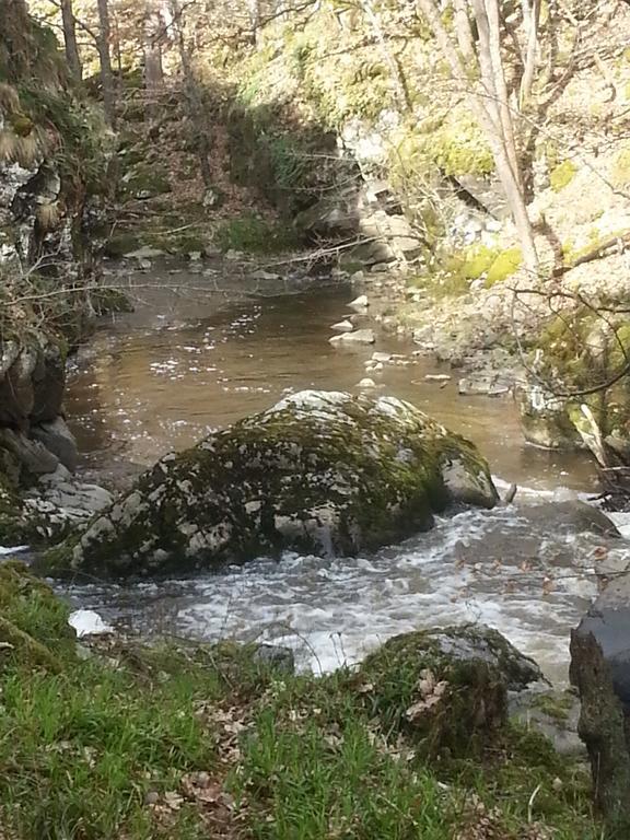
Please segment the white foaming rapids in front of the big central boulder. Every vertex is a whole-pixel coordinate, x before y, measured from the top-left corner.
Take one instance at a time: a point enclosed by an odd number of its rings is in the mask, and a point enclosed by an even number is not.
[[[629,544],[533,521],[527,505],[466,511],[372,557],[287,553],[195,580],[74,588],[75,603],[141,633],[266,640],[302,667],[351,664],[409,630],[480,621],[556,680],[569,635],[596,594],[596,558]]]

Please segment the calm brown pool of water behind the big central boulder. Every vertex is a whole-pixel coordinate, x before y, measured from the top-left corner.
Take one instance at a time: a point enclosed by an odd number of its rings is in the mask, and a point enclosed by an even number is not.
[[[415,357],[408,339],[382,334],[374,346],[331,346],[330,325],[352,314],[352,298],[351,290],[336,287],[233,304],[223,295],[174,296],[118,317],[91,340],[70,381],[66,407],[85,463],[151,464],[287,393],[358,392],[370,376],[375,393],[408,399],[475,441],[508,481],[541,489],[594,486],[583,457],[525,444],[511,399],[458,396],[457,371]],[[357,326],[363,326],[361,317]],[[375,350],[402,358],[366,373]],[[425,381],[427,374],[452,378]]]

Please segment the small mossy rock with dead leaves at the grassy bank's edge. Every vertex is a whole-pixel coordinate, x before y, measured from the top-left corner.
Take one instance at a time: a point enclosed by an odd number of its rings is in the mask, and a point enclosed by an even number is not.
[[[483,625],[397,635],[358,673],[361,693],[385,730],[430,755],[486,747],[508,722],[508,693],[540,680],[535,662]]]

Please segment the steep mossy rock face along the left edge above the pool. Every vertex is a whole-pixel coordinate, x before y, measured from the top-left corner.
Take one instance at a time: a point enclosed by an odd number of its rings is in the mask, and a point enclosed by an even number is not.
[[[0,27],[0,479],[13,488],[75,446],[66,357],[97,300],[106,131],[67,78],[51,31],[4,0]],[[0,542],[2,532],[0,529]]]

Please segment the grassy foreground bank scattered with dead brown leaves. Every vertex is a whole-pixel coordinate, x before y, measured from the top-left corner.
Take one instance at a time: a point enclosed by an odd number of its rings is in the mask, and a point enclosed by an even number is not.
[[[532,732],[428,761],[374,716],[354,672],[291,676],[231,644],[78,646],[66,607],[12,564],[0,606],[34,644],[19,653],[0,626],[3,837],[603,837],[585,777]]]

